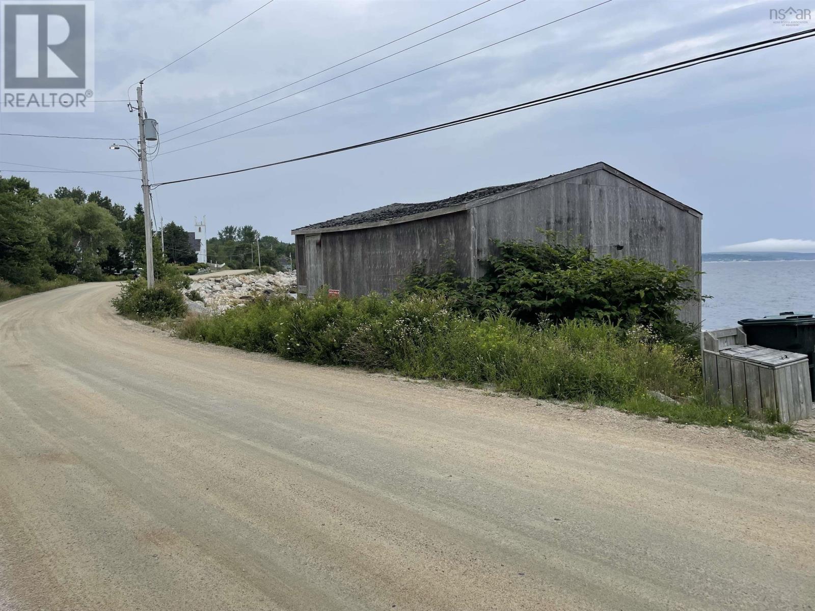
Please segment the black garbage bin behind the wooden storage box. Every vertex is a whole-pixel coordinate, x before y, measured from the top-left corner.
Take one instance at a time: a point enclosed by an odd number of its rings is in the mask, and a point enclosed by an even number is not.
[[[815,399],[815,316],[782,312],[763,319],[743,319],[747,343],[766,348],[806,354],[809,358],[809,384]]]

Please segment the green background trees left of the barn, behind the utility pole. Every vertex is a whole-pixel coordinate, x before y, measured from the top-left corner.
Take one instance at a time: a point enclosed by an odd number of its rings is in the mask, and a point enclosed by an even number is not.
[[[156,264],[189,265],[196,252],[183,226],[169,222],[155,231]],[[209,262],[233,269],[257,266],[258,231],[253,226],[226,226],[208,240]],[[294,257],[294,244],[266,235],[259,239],[264,267],[282,269]],[[143,267],[144,211],[136,204],[132,214],[101,191],[58,187],[52,194],[33,187],[29,180],[0,176],[0,280],[37,288],[70,277],[102,280],[123,270]]]

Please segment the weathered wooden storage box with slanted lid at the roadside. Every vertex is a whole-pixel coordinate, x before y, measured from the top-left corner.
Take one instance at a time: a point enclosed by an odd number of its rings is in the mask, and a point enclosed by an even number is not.
[[[703,351],[705,391],[753,418],[795,422],[813,415],[806,354],[758,345]]]

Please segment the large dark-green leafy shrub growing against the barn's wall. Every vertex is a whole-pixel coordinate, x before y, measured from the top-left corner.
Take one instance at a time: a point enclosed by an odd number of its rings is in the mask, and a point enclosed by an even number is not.
[[[677,344],[695,335],[694,327],[677,319],[685,302],[701,298],[688,267],[667,270],[635,257],[595,257],[583,246],[559,244],[552,231],[544,233],[542,243],[492,240],[497,253],[482,262],[479,279],[460,278],[452,259],[437,274],[417,266],[399,294],[442,295],[456,310],[479,318],[507,313],[529,324],[576,319],[647,325]]]

